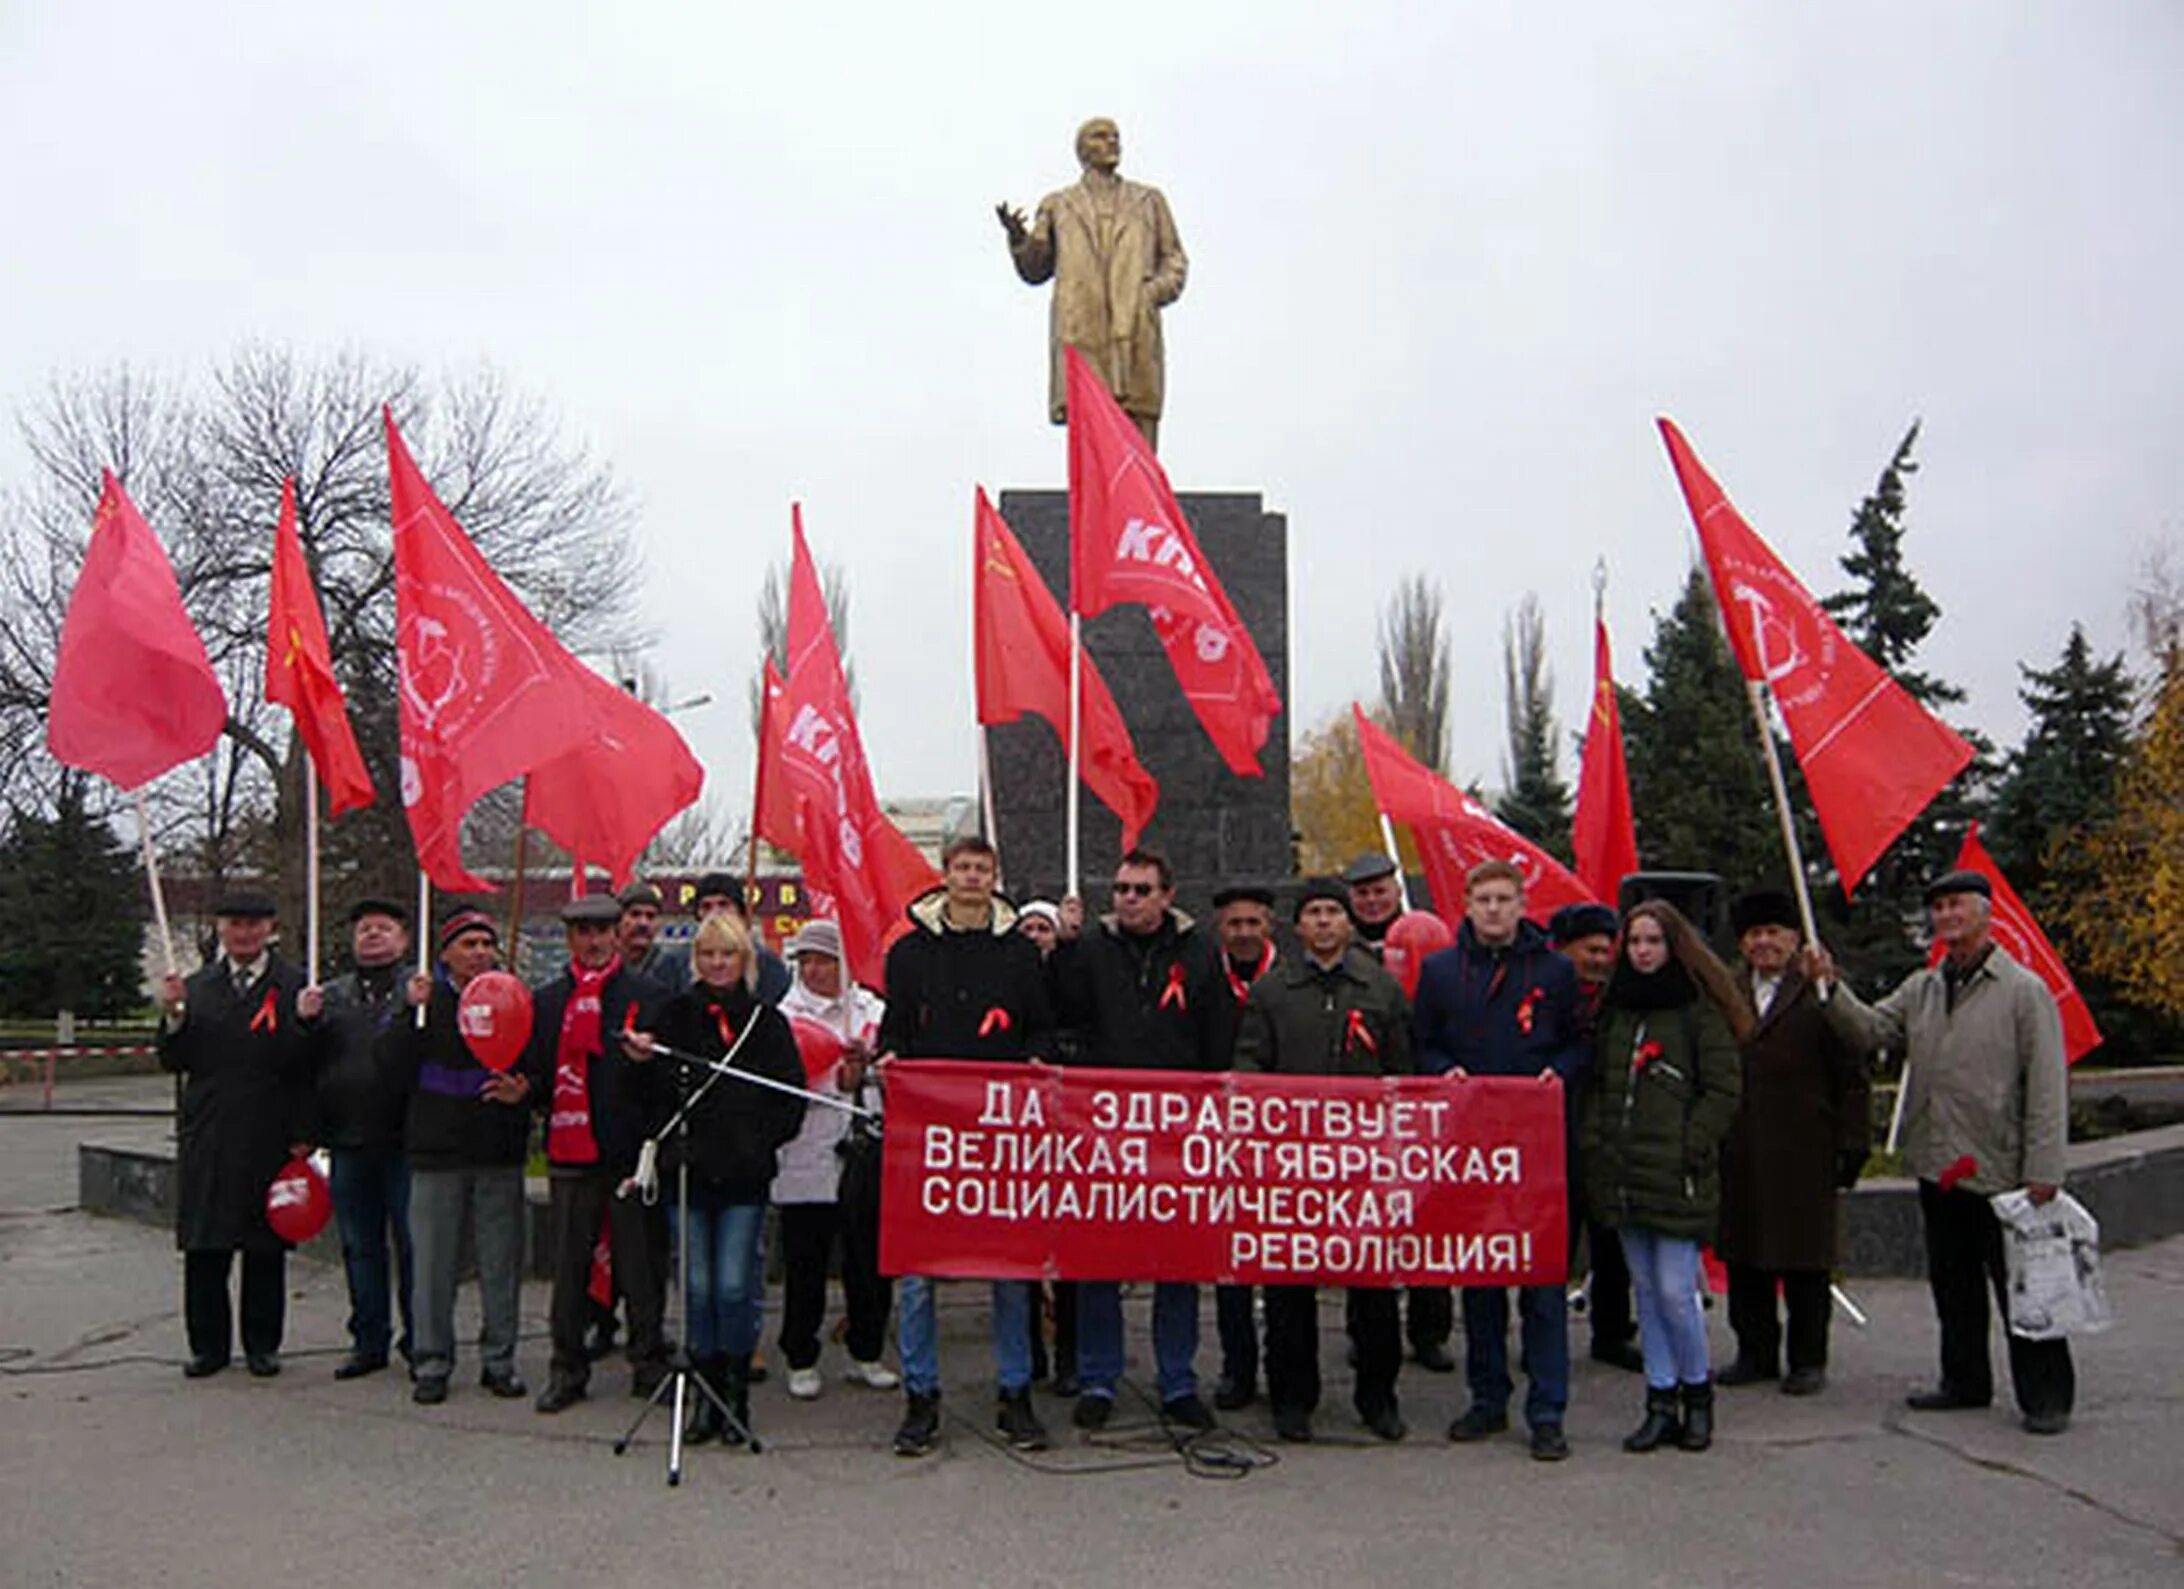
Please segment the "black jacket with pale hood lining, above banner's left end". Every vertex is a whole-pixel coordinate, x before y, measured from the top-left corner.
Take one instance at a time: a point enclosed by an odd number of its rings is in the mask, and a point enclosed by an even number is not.
[[[946,921],[948,891],[909,906],[911,930],[887,952],[880,1052],[895,1059],[1051,1059],[1055,1006],[1040,949],[994,895],[983,928]]]

